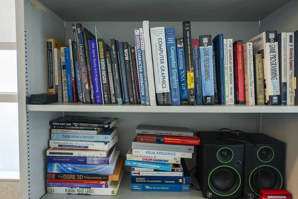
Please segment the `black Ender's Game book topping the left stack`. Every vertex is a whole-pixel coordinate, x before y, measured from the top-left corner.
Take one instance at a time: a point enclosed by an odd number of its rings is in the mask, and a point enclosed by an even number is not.
[[[51,126],[59,125],[66,127],[112,128],[115,124],[118,124],[117,118],[98,118],[76,115],[67,115],[50,121]]]

